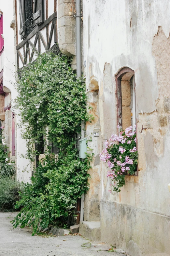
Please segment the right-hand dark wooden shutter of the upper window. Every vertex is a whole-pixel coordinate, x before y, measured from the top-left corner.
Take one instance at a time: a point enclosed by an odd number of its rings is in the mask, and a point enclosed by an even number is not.
[[[33,21],[34,25],[39,25],[43,22],[43,0],[34,0]]]

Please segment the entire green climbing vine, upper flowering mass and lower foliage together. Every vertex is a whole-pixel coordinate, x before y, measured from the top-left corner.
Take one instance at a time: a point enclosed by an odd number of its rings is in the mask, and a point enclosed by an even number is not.
[[[39,162],[31,184],[25,184],[25,192],[16,208],[22,210],[14,219],[14,227],[31,223],[33,234],[53,222],[65,222],[74,212],[77,198],[88,189],[87,174],[92,154],[82,162],[78,157],[77,134],[81,122],[92,116],[86,109],[85,83],[71,69],[70,58],[53,53],[40,54],[20,73],[17,84],[16,108],[20,110],[22,138],[27,143],[27,155],[31,162],[40,154],[38,146],[46,140],[59,149],[58,160],[50,155]],[[47,134],[48,130],[48,134]],[[46,140],[45,140],[46,138]]]

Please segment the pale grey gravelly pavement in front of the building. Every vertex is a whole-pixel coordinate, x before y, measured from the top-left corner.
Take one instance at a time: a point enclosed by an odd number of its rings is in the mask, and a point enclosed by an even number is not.
[[[125,256],[110,252],[105,243],[95,243],[79,235],[32,236],[29,229],[13,229],[16,213],[0,213],[0,256]]]

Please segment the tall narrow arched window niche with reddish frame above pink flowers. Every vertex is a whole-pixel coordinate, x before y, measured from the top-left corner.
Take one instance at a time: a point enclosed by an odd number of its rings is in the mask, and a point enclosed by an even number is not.
[[[135,72],[124,67],[116,75],[118,124],[125,130],[132,126],[135,129]]]

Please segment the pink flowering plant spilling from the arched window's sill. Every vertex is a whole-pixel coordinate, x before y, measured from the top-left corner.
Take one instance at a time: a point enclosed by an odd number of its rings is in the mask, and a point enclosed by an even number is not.
[[[100,154],[100,159],[108,164],[107,177],[114,181],[113,191],[120,192],[120,188],[125,185],[125,175],[134,175],[136,171],[136,132],[130,126],[121,130],[120,136],[112,134],[109,141],[104,143],[105,149]]]

